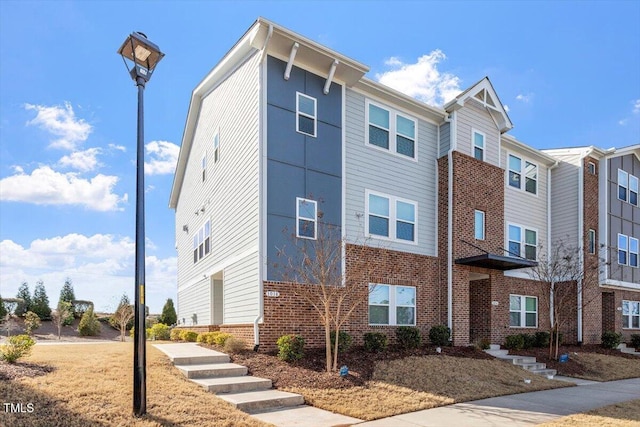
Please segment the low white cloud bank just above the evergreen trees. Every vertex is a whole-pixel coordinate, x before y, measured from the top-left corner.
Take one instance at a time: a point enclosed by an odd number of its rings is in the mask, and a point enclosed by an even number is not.
[[[33,291],[36,281],[43,280],[49,303],[55,305],[69,277],[76,297],[93,301],[97,310],[115,309],[123,293],[133,299],[135,245],[129,237],[68,234],[37,239],[28,247],[3,240],[0,253],[3,296],[14,296],[23,281]],[[166,299],[174,298],[177,261],[147,256],[145,267],[146,304],[159,313]]]

